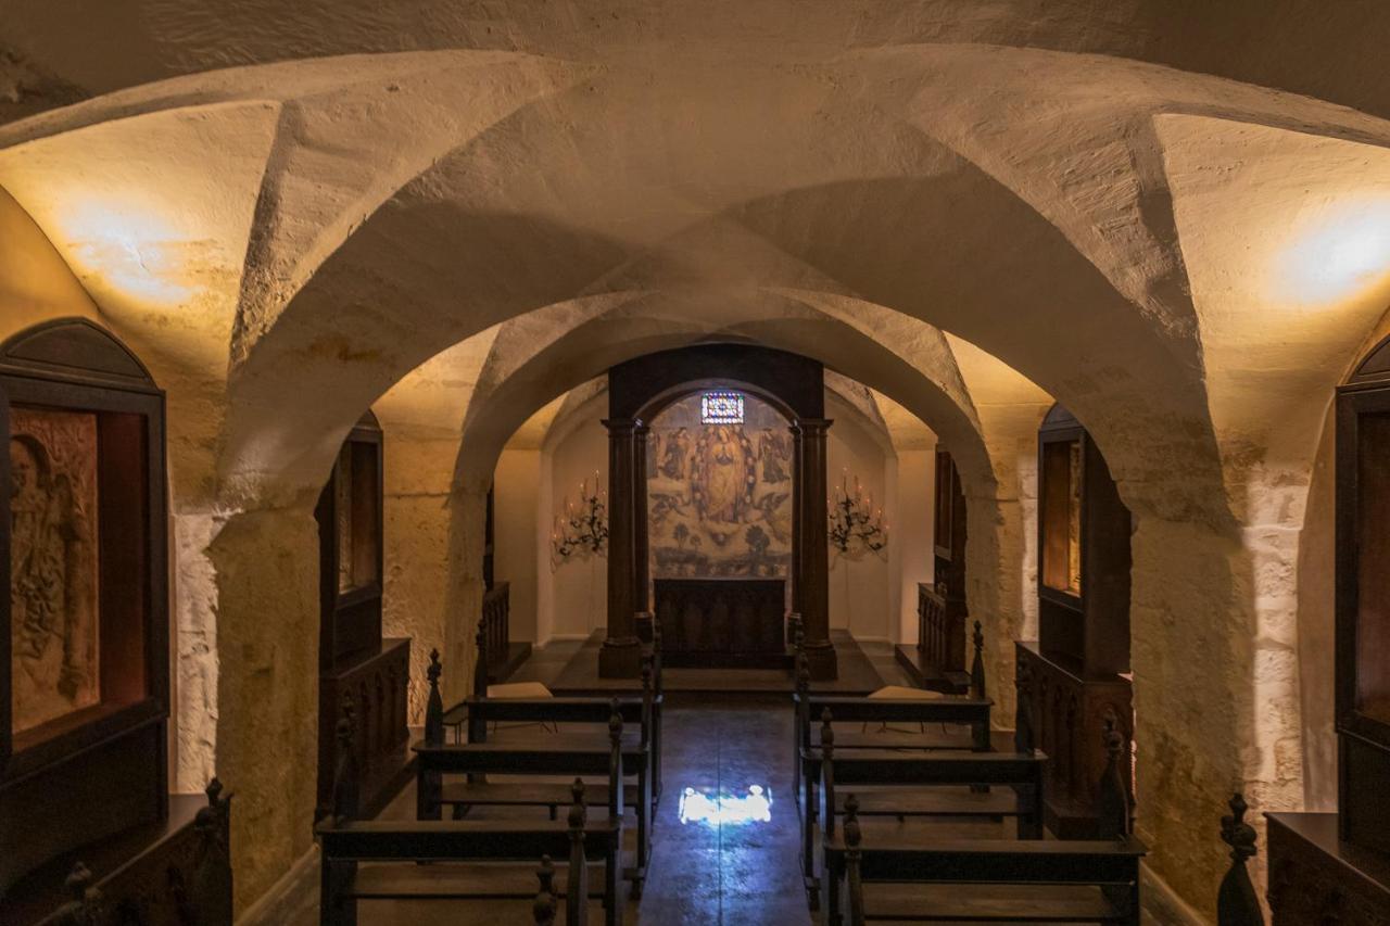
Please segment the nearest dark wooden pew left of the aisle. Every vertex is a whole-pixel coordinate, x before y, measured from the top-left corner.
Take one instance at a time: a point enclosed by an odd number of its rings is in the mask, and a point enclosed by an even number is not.
[[[567,923],[585,923],[587,902],[598,895],[603,900],[606,925],[621,925],[621,818],[610,815],[589,822],[582,780],[574,779],[569,786],[570,812],[563,825],[553,820],[359,820],[360,784],[350,758],[352,726],[348,722],[339,722],[338,737],[346,747],[339,755],[346,758],[335,770],[334,806],[316,827],[322,856],[322,926],[356,926],[357,904],[363,900],[528,898],[530,893],[499,890],[495,865],[470,870],[460,862],[524,862],[538,855],[546,862],[550,855],[569,859]],[[603,887],[596,894],[588,886],[591,859],[602,859],[603,865]],[[364,868],[366,862],[410,865]],[[552,880],[542,882],[542,887],[549,887]]]

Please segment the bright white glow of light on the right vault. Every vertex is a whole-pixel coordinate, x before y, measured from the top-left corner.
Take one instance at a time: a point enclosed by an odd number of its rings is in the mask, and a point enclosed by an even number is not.
[[[1390,199],[1332,209],[1294,234],[1280,261],[1282,296],[1327,304],[1390,278]]]

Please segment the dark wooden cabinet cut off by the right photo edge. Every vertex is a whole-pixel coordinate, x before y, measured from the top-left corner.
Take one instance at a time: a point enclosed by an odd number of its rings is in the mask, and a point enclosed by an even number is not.
[[[1336,813],[1269,813],[1286,923],[1390,925],[1390,342],[1337,391]]]

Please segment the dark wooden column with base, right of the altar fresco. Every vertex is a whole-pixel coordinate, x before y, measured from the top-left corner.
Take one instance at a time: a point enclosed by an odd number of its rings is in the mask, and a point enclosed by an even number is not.
[[[801,619],[810,677],[838,674],[830,644],[830,551],[827,548],[826,432],[828,419],[798,419],[801,430],[796,481],[801,484]]]

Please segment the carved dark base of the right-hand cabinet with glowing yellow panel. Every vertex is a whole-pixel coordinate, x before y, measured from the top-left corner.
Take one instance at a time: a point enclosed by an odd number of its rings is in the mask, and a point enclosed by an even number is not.
[[[1097,781],[1106,765],[1106,729],[1133,741],[1130,683],[1120,676],[1083,679],[1037,651],[1017,644],[1017,727],[1048,756],[1048,827],[1061,838],[1088,838],[1095,825]],[[1024,715],[1027,710],[1027,715]],[[1130,751],[1122,773],[1131,780]]]

